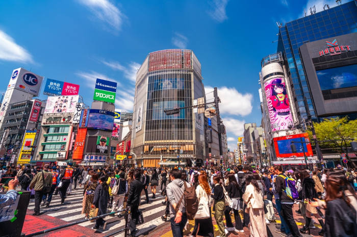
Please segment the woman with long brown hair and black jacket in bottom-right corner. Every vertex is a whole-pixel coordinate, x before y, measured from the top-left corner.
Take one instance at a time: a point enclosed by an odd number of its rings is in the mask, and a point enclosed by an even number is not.
[[[326,203],[315,199],[312,204],[326,208],[325,237],[357,235],[357,196],[342,172],[331,172],[325,182]]]

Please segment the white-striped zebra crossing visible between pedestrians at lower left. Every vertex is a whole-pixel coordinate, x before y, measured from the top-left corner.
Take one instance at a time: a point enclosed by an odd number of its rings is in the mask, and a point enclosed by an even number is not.
[[[142,193],[144,194],[144,193]],[[164,197],[159,193],[156,194],[155,199],[151,199],[151,194],[149,194],[150,202],[146,203],[145,195],[141,196],[141,205],[139,209],[143,213],[144,223],[138,225],[138,229],[147,228],[147,227],[155,227],[158,226],[164,221],[161,220],[161,216],[165,213],[165,207],[162,205],[162,201],[164,201]],[[58,218],[62,221],[66,222],[74,222],[84,220],[85,214],[81,214],[82,212],[82,202],[83,202],[83,188],[78,188],[77,190],[72,189],[72,192],[65,199],[64,204],[61,204],[60,195],[54,195],[52,201],[48,208],[41,207],[40,213],[42,215],[47,215],[49,217]],[[30,200],[28,209],[33,210],[35,207],[34,199]],[[110,209],[108,209],[108,213]],[[109,235],[110,233],[115,233],[120,229],[123,229],[125,226],[125,220],[123,217],[119,218],[118,216],[107,216],[104,218],[107,222],[107,228],[105,230],[98,229],[96,233],[103,233],[103,235]],[[78,224],[80,226],[91,229],[95,225],[94,222],[83,222]],[[94,230],[93,230],[94,232]],[[116,234],[115,236],[124,236],[124,233]]]

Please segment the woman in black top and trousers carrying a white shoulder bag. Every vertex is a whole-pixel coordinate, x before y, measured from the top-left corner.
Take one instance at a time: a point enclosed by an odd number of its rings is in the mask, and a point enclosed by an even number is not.
[[[226,206],[224,210],[225,222],[227,224],[226,230],[227,232],[235,231],[235,232],[244,232],[242,226],[242,220],[239,216],[238,210],[240,207],[240,198],[242,194],[240,192],[237,179],[234,174],[228,175],[228,186],[225,188],[228,192],[228,195],[232,199],[232,206]],[[231,210],[233,209],[234,219],[236,221],[236,227],[233,227],[232,219],[231,219]]]

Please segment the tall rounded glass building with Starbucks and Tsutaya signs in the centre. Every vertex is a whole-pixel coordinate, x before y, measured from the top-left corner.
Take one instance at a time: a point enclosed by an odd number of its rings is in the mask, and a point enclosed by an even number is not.
[[[137,73],[134,100],[132,151],[138,166],[203,163],[203,114],[192,108],[173,115],[164,112],[205,98],[201,79],[201,65],[192,50],[160,50],[146,57]]]

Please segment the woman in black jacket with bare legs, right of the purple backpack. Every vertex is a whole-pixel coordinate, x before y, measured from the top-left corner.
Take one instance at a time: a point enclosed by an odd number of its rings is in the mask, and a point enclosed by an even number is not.
[[[311,215],[313,215],[317,218],[317,220],[321,225],[321,231],[319,232],[319,235],[323,236],[325,232],[325,224],[323,223],[322,218],[318,214],[316,207],[311,205],[311,201],[314,198],[318,198],[315,189],[315,181],[314,179],[310,178],[310,174],[307,170],[300,170],[300,178],[302,179],[302,186],[301,186],[302,189],[299,196],[306,203],[306,209],[305,209],[306,223],[301,229],[299,229],[299,231],[301,233],[306,233],[308,231],[308,233],[310,234],[309,225],[311,223]]]

